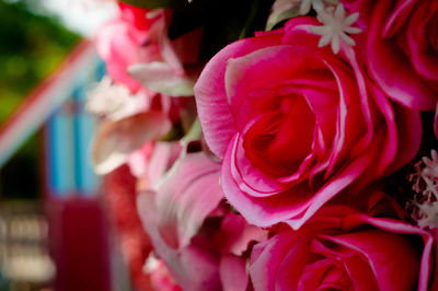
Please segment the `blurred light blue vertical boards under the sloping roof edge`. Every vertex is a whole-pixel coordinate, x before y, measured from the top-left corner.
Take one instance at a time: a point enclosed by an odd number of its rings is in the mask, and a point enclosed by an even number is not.
[[[90,160],[90,147],[96,120],[84,110],[90,84],[105,74],[105,63],[99,60],[88,82],[72,88],[71,96],[50,116],[47,123],[47,185],[56,197],[72,194],[96,195],[100,179]]]

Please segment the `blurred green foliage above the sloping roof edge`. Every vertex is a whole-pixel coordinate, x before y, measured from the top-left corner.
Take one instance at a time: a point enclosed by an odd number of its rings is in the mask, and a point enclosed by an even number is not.
[[[53,19],[27,8],[26,1],[0,0],[0,124],[79,39]]]

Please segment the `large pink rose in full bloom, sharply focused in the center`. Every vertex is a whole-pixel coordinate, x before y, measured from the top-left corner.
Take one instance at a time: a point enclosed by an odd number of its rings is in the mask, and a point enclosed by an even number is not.
[[[418,150],[418,113],[389,101],[345,43],[338,55],[319,48],[318,24],[297,18],[227,46],[195,86],[205,139],[223,159],[224,195],[251,224],[298,229]]]

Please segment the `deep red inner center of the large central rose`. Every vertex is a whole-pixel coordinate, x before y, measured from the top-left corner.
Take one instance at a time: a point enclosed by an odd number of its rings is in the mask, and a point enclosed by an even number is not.
[[[264,115],[246,132],[246,158],[267,174],[290,175],[311,152],[314,124],[304,97],[284,96],[276,110]]]

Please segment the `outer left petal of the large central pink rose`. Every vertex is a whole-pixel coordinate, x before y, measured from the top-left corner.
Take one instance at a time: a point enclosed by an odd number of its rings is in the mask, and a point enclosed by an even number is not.
[[[280,37],[281,35],[270,34],[232,43],[212,57],[203,70],[194,92],[205,139],[217,156],[223,158],[228,143],[237,131],[226,93],[227,61],[267,46],[279,45]]]

